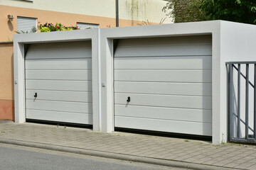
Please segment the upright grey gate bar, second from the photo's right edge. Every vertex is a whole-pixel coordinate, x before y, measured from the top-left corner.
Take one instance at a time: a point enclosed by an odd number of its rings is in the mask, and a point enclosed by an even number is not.
[[[246,86],[245,86],[245,139],[248,139],[249,131],[249,64],[246,64]]]

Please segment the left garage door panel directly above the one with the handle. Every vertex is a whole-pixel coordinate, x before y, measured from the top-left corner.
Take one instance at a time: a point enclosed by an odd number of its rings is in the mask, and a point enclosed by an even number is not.
[[[92,91],[92,81],[26,80],[26,89]]]

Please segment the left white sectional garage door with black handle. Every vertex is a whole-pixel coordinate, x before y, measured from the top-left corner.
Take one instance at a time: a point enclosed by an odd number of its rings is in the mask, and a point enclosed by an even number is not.
[[[27,119],[92,124],[90,41],[32,44],[25,61]]]

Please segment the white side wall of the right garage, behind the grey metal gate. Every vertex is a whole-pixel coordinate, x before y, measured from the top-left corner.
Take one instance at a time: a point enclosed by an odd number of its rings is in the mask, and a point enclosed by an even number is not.
[[[226,131],[228,128],[227,121],[227,74],[225,62],[256,62],[256,26],[244,23],[233,23],[228,21],[222,21],[220,24],[220,125],[222,125],[221,131]],[[252,67],[252,66],[251,66]],[[242,67],[241,67],[242,68]],[[250,69],[250,81],[254,81],[252,73],[254,70]],[[245,74],[245,67],[241,69],[241,72]],[[237,79],[237,72],[234,69],[234,80]],[[235,81],[236,82],[236,81]],[[237,89],[237,84],[234,84]],[[245,115],[245,80],[241,77],[241,114]],[[236,94],[237,95],[237,94]],[[237,98],[235,98],[237,99]],[[253,93],[250,87],[250,126],[252,124],[252,112],[253,112]],[[235,111],[237,113],[237,111]],[[245,120],[245,116],[242,116]],[[225,126],[227,125],[227,126]],[[242,123],[241,123],[242,125]],[[243,126],[243,125],[242,125]],[[244,126],[242,128],[242,134],[245,134]],[[224,138],[227,134],[224,134]]]

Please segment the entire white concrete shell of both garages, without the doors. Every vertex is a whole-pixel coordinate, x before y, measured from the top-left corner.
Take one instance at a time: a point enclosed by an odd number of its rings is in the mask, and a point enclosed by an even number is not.
[[[114,131],[114,40],[212,36],[212,142],[228,141],[228,69],[226,62],[255,61],[256,26],[228,21],[203,21],[154,26],[95,28],[14,35],[15,122],[26,121],[24,46],[42,42],[92,40],[93,130]],[[241,101],[242,102],[242,101]]]

